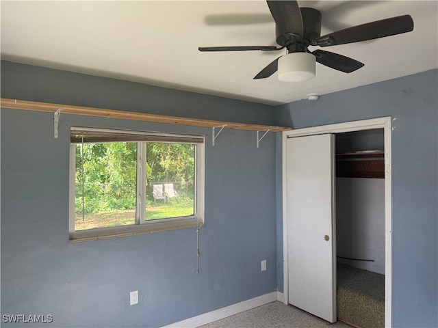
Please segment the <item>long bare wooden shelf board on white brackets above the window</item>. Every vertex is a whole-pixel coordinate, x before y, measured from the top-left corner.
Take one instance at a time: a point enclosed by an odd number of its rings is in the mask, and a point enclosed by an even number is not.
[[[73,106],[73,105],[61,105],[61,104],[53,104],[49,102],[36,102],[36,101],[15,100],[15,99],[7,99],[7,98],[1,98],[0,105],[1,108],[24,109],[27,111],[48,111],[51,113],[55,113],[57,109],[62,108],[61,114],[99,116],[104,118],[120,118],[123,120],[138,120],[138,121],[146,121],[146,122],[205,126],[211,128],[215,126],[225,126],[225,128],[234,128],[237,130],[248,130],[248,131],[269,130],[271,132],[290,131],[293,129],[287,126],[271,126],[271,125],[261,125],[261,124],[246,124],[246,123],[222,122],[222,121],[213,121],[213,120],[201,120],[196,118],[180,118],[177,116],[138,113],[133,111],[118,111],[115,109],[101,109],[101,108],[81,107],[81,106]]]

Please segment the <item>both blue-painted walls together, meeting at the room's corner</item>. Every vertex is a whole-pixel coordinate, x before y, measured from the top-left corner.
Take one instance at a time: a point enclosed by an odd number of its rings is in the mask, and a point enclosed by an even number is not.
[[[437,327],[437,70],[280,107],[1,62],[1,97],[295,128],[392,115],[393,324]],[[68,243],[68,129],[207,135],[196,231]],[[59,327],[158,327],[283,291],[281,135],[1,110],[1,314]],[[260,260],[268,270],[260,271]],[[139,290],[140,304],[129,306]],[[31,327],[27,324],[26,327]]]

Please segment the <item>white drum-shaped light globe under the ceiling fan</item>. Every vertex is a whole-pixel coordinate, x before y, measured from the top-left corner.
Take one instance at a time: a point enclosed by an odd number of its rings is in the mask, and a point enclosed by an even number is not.
[[[316,58],[311,53],[289,53],[279,58],[280,81],[308,81],[315,77],[315,71]]]

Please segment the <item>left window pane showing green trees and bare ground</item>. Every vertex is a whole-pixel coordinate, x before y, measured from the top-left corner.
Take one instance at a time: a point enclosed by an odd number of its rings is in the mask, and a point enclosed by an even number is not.
[[[76,146],[75,230],[136,224],[137,143]]]

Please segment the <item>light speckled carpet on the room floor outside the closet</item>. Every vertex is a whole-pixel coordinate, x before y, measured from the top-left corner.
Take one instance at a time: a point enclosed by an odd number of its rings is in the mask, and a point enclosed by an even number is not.
[[[222,320],[203,325],[203,328],[351,328],[345,323],[333,325],[292,305],[272,302]]]

